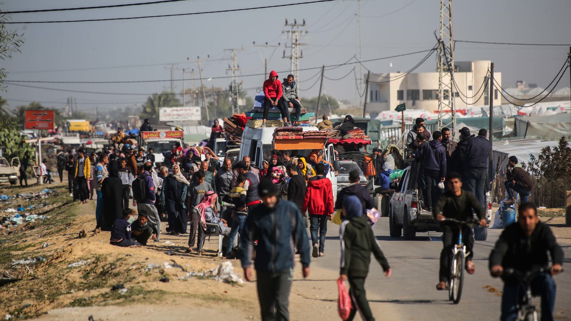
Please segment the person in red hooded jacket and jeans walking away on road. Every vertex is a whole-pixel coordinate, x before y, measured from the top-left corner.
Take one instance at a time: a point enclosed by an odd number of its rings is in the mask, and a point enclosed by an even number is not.
[[[324,164],[315,166],[316,176],[309,179],[305,198],[303,199],[303,210],[309,212],[309,231],[311,231],[311,243],[313,243],[313,257],[324,256],[325,234],[327,234],[327,219],[333,218],[333,187],[331,180],[325,177]],[[317,248],[317,231],[319,230],[319,248]]]

